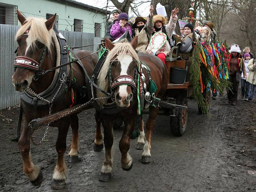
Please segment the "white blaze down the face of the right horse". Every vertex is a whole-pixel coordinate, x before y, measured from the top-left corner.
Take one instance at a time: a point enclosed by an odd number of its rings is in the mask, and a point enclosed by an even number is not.
[[[120,61],[121,65],[121,72],[120,75],[128,75],[127,70],[129,65],[132,62],[132,56],[131,55],[118,55],[117,59]],[[127,85],[120,85],[119,86],[119,95],[122,99],[126,99],[130,93],[127,93]]]

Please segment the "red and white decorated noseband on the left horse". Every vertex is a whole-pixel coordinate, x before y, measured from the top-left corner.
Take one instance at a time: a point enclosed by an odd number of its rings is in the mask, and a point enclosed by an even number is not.
[[[28,68],[34,71],[40,70],[40,65],[36,60],[33,60],[29,57],[25,56],[18,56],[15,58],[13,67],[23,67],[23,68]]]

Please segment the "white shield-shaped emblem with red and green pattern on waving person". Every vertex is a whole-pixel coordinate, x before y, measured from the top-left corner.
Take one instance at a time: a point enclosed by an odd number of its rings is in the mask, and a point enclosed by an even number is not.
[[[161,47],[163,47],[166,40],[167,40],[166,34],[160,31],[155,33],[153,36],[151,36],[150,46],[154,55],[159,49],[161,49]]]

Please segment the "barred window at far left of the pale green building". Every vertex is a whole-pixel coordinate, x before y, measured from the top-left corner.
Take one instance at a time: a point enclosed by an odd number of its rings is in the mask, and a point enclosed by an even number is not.
[[[17,25],[17,5],[0,3],[0,24]]]

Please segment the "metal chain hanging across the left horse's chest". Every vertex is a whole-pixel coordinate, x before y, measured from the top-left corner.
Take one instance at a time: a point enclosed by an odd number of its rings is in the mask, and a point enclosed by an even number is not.
[[[52,103],[53,103],[53,100],[54,100],[55,97],[58,95],[58,93],[60,92],[60,88],[62,87],[62,84],[65,82],[65,79],[64,79],[65,76],[66,76],[66,75],[64,74],[64,76],[62,76],[62,78],[60,78],[60,82],[61,82],[61,83],[60,83],[60,86],[59,86],[57,92],[56,92],[56,93],[54,94],[54,96],[52,97],[52,100],[51,100],[51,101],[48,101],[48,100],[44,99],[43,97],[39,96],[39,95],[36,94],[30,87],[28,87],[28,90],[29,90],[30,92],[32,92],[37,98],[39,98],[39,99],[41,99],[41,100],[43,100],[44,102],[47,102],[47,103],[49,104],[49,115],[51,115],[51,113],[52,113]],[[32,142],[34,145],[40,145],[40,144],[44,141],[44,139],[45,139],[45,137],[46,137],[46,135],[47,135],[48,129],[49,129],[49,127],[50,127],[50,123],[47,124],[46,130],[45,130],[45,133],[44,133],[44,137],[42,138],[42,140],[41,140],[39,143],[36,143],[36,142],[33,140],[33,137],[32,137],[32,134],[31,134],[31,128],[30,128],[30,126],[31,126],[31,122],[28,124],[31,142]]]

